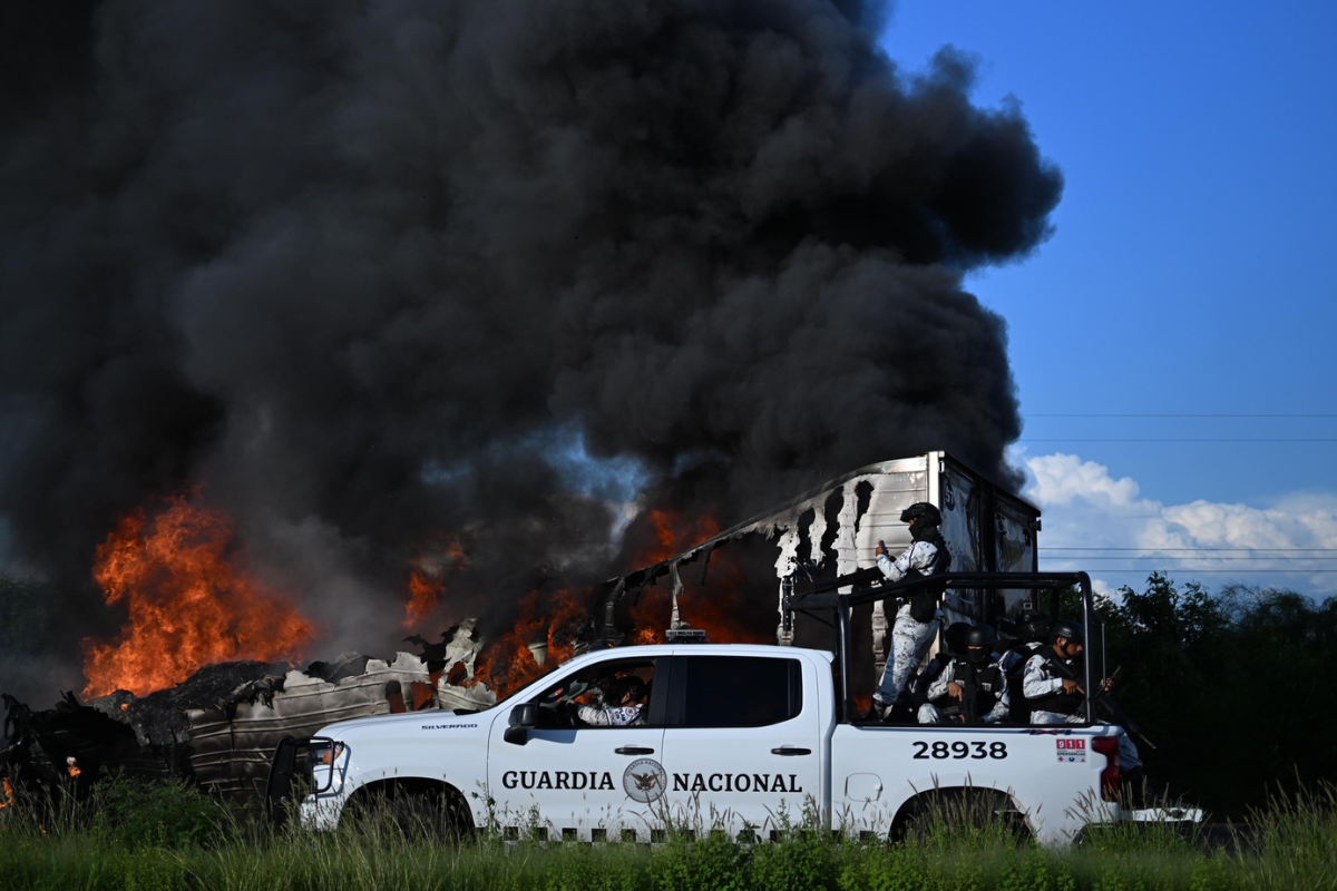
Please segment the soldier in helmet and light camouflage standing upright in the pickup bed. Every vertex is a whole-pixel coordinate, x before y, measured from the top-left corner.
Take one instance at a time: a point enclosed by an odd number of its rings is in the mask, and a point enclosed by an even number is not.
[[[952,554],[947,549],[939,526],[943,514],[933,505],[920,501],[901,512],[901,522],[909,524],[910,546],[892,560],[886,542],[877,542],[877,568],[890,581],[928,578],[947,572]],[[910,671],[920,664],[933,635],[937,632],[937,597],[943,590],[920,590],[896,610],[892,625],[892,659],[886,660],[882,681],[873,693],[873,712],[886,717],[905,688]]]

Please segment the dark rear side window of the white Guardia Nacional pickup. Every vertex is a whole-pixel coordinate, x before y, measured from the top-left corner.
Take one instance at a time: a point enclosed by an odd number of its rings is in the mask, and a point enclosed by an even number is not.
[[[804,709],[796,659],[689,656],[682,664],[686,727],[766,727]]]

